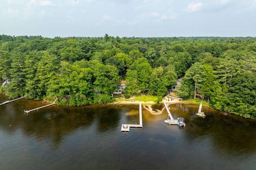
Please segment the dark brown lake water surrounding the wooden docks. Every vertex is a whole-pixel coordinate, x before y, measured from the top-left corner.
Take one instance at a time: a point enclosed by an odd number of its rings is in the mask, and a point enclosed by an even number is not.
[[[7,98],[0,94],[0,103]],[[143,128],[121,133],[122,123],[139,123],[139,106],[51,106],[19,100],[0,106],[0,170],[160,169],[256,170],[256,121],[198,105],[171,105],[186,127],[167,125],[167,112],[142,110]],[[161,109],[163,105],[154,106]]]

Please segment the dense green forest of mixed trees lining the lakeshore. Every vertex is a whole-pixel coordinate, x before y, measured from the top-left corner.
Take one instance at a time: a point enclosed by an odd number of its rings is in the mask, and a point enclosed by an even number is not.
[[[164,96],[177,79],[184,99],[203,95],[218,110],[256,118],[256,38],[127,38],[0,35],[1,92],[10,98],[82,106],[127,95]],[[69,96],[67,99],[65,96]]]

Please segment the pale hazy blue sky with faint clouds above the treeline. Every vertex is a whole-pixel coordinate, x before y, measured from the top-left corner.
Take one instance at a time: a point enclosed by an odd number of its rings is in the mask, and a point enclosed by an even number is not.
[[[0,34],[256,36],[256,0],[0,0]]]

